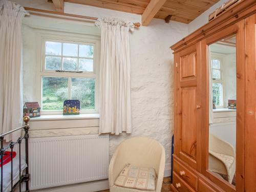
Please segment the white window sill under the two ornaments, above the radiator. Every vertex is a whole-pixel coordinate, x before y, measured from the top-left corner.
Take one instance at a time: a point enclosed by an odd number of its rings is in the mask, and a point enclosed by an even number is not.
[[[53,121],[53,120],[78,120],[78,119],[99,119],[99,114],[79,114],[79,115],[41,115],[30,118],[30,121]]]

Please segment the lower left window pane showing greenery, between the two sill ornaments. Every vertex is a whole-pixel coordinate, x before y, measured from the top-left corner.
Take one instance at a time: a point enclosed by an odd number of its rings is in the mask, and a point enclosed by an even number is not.
[[[42,77],[42,110],[62,110],[68,99],[68,78]]]

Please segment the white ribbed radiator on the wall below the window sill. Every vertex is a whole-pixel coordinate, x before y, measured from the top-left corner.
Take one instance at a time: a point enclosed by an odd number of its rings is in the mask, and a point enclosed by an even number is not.
[[[30,189],[108,178],[109,135],[29,139]]]

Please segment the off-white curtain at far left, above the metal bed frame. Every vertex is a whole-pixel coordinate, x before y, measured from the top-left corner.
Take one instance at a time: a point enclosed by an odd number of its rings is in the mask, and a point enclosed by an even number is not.
[[[28,14],[20,5],[0,0],[0,132],[22,126],[22,18]],[[7,135],[16,139],[20,132]]]

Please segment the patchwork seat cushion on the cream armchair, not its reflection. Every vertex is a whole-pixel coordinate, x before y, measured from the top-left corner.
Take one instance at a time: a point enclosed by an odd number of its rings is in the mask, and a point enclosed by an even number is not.
[[[141,190],[156,190],[154,168],[141,168],[127,163],[115,181],[115,185]]]

